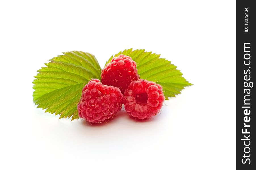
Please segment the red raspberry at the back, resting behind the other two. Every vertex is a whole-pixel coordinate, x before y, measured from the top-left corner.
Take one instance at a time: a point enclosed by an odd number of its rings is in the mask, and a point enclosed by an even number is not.
[[[140,78],[136,67],[135,61],[129,56],[119,55],[118,57],[114,57],[102,69],[102,84],[117,87],[123,94],[133,80]]]

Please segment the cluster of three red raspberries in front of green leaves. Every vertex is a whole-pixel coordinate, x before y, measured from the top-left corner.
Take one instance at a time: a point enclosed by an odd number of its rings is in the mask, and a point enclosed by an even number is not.
[[[129,56],[119,55],[102,69],[101,82],[91,79],[83,88],[77,105],[79,117],[91,123],[112,118],[121,110],[138,119],[157,115],[165,99],[163,88],[139,79],[137,65]]]

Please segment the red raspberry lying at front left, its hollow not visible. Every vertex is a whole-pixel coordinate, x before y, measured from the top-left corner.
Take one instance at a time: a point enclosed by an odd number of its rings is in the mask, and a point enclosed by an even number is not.
[[[91,79],[83,88],[77,105],[79,117],[91,123],[104,122],[121,110],[122,99],[118,88]]]

